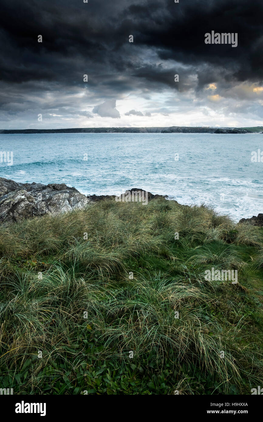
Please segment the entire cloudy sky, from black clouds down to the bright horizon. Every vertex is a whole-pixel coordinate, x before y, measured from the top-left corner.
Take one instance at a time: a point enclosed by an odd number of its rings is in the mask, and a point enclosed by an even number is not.
[[[1,1],[0,129],[261,125],[262,0]]]

